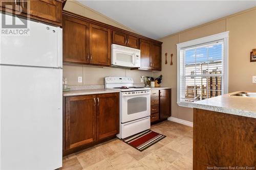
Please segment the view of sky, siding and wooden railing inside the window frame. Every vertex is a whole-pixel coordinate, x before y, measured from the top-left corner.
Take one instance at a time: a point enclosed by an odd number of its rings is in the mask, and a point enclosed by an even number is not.
[[[194,102],[222,94],[223,42],[181,50],[181,100]]]

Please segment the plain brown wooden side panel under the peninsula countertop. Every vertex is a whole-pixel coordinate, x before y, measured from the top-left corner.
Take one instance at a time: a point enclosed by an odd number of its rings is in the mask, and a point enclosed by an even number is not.
[[[194,170],[256,165],[255,118],[194,108],[193,119]]]

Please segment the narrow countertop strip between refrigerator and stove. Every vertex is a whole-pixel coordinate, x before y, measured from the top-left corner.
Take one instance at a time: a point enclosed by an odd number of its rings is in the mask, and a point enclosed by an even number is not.
[[[70,90],[70,91],[63,92],[63,96],[116,93],[116,92],[119,92],[119,90],[112,90],[112,89]]]

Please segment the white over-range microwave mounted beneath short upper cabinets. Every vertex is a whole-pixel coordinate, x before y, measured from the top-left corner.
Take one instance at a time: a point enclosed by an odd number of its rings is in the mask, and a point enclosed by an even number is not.
[[[111,64],[121,67],[140,67],[140,50],[112,44]]]

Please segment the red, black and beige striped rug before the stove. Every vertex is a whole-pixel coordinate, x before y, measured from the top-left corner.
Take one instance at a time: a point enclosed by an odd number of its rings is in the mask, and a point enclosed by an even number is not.
[[[131,145],[133,148],[142,152],[165,137],[166,136],[159,134],[157,132],[146,130],[136,135],[127,137],[123,139],[123,141]]]

